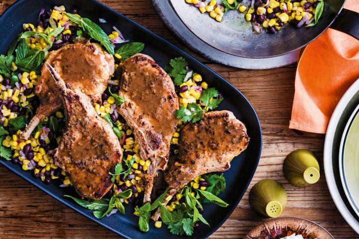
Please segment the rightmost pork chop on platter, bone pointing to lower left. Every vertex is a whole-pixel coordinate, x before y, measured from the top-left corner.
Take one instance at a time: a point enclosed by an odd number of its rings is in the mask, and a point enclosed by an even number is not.
[[[165,176],[168,195],[174,196],[197,176],[228,170],[232,159],[245,150],[248,143],[245,125],[232,112],[208,112],[202,120],[188,123],[181,132],[179,159]],[[160,214],[157,211],[153,220],[157,221]]]

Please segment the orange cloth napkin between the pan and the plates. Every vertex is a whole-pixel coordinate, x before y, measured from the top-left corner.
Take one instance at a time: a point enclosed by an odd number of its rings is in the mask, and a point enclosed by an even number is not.
[[[359,0],[348,0],[345,8],[359,12]],[[328,29],[302,51],[289,127],[325,133],[339,100],[357,79],[359,40]]]

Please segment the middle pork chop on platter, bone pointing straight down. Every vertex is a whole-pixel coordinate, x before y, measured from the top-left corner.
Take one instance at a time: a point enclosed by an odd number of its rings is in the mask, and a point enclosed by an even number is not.
[[[117,111],[133,129],[141,158],[152,161],[145,176],[148,202],[157,170],[167,166],[179,103],[170,76],[148,57],[133,56],[123,62],[122,70],[119,95],[126,100]]]

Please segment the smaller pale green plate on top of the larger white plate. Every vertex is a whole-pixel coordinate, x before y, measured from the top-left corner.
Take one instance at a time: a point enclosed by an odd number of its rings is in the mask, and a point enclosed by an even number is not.
[[[344,192],[359,216],[359,105],[344,129],[339,149],[339,171]]]

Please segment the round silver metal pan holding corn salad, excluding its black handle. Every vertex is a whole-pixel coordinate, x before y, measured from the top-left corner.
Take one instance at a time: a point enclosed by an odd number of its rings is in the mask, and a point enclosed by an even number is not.
[[[288,64],[295,50],[317,38],[330,25],[359,37],[359,14],[342,9],[345,0],[325,0],[316,26],[297,29],[288,25],[274,35],[254,34],[244,15],[235,10],[227,12],[218,23],[184,0],[153,0],[153,3],[165,23],[188,46],[213,61],[242,68],[263,69]],[[243,3],[249,5],[250,0]],[[283,62],[283,58],[287,62]],[[268,67],[261,67],[258,62]]]

